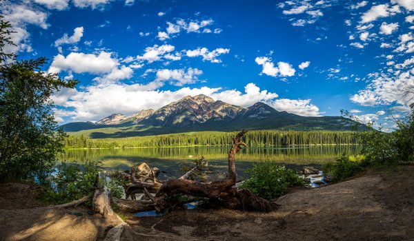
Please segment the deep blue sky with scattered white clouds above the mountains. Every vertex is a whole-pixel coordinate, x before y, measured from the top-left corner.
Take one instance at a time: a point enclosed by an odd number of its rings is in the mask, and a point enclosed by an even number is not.
[[[53,96],[61,123],[207,94],[392,127],[411,103],[414,0],[23,0],[1,12],[17,31],[6,50],[79,79]]]

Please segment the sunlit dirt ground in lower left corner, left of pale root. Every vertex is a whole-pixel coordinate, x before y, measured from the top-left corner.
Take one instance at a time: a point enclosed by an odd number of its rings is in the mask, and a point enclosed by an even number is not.
[[[24,184],[0,185],[0,240],[97,240],[107,224],[86,207],[50,209],[32,197]],[[74,216],[68,212],[82,213]]]

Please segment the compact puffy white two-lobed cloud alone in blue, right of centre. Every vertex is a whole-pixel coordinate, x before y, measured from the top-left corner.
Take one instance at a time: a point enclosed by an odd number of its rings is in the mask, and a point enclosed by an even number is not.
[[[262,65],[262,72],[261,74],[266,74],[268,76],[294,76],[296,70],[293,68],[290,63],[285,62],[278,62],[277,67],[275,67],[275,64],[271,62],[272,59],[269,57],[257,57],[255,59],[255,62],[258,65]]]

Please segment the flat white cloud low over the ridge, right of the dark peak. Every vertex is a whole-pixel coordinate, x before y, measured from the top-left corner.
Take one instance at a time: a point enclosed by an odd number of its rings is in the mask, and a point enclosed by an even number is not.
[[[288,98],[279,98],[270,101],[270,106],[278,111],[286,111],[300,116],[320,116],[319,108],[311,104],[311,100],[290,100]]]

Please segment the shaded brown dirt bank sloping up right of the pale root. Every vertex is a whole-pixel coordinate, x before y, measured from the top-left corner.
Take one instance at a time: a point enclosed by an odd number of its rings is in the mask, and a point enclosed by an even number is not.
[[[282,207],[271,213],[189,210],[163,218],[132,217],[123,238],[414,240],[414,167],[376,171],[336,185],[296,191],[277,203]]]

